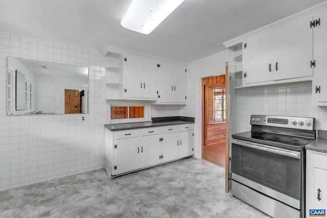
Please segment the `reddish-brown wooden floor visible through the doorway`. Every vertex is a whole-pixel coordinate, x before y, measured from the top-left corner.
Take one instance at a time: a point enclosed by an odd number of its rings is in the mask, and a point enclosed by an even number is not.
[[[204,146],[202,158],[225,168],[225,141]]]

